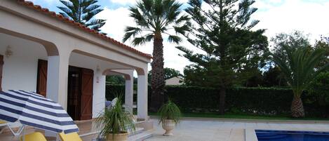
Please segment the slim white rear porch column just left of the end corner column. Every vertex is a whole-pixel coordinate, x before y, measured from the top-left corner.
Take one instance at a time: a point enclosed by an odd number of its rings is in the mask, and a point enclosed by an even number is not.
[[[133,76],[126,79],[125,106],[126,111],[133,114]]]

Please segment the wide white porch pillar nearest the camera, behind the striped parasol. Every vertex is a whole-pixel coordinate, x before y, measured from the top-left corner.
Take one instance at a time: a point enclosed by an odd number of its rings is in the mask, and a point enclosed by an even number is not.
[[[67,109],[67,76],[69,71],[69,53],[48,56],[47,98],[58,102]]]

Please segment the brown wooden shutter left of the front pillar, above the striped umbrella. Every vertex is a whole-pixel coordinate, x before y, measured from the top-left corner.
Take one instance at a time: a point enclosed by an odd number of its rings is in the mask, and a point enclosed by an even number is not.
[[[46,97],[47,91],[47,69],[48,62],[46,60],[38,60],[38,76],[36,82],[36,93]]]

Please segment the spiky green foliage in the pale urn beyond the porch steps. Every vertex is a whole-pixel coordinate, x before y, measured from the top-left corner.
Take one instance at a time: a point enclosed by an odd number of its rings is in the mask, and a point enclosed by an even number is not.
[[[160,107],[158,115],[159,123],[168,119],[173,120],[175,123],[179,123],[182,117],[180,108],[178,108],[177,105],[175,105],[175,103],[171,102],[170,100],[168,100],[166,104]]]

